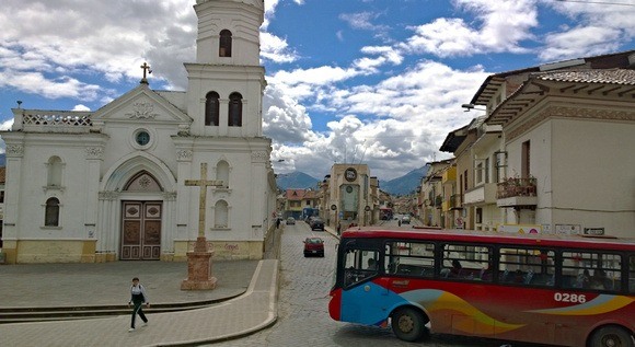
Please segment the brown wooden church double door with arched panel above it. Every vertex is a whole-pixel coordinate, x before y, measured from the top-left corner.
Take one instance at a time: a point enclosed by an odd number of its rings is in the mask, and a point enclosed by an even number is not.
[[[152,199],[152,193],[162,190],[158,181],[146,171],[139,172],[126,184],[126,196],[131,199],[122,200],[123,261],[160,259],[163,203]]]

